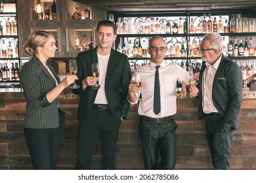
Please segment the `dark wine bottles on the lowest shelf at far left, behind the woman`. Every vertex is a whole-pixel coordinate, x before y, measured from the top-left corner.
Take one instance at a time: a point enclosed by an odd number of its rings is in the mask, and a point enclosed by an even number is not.
[[[8,82],[8,81],[18,81],[20,78],[18,77],[20,73],[20,69],[18,67],[18,62],[12,61],[11,67],[8,67],[8,63],[0,63],[0,82]]]

